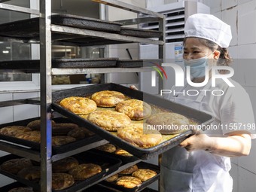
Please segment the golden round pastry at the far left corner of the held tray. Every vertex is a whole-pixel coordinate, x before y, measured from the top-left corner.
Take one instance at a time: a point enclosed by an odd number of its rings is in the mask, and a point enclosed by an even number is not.
[[[62,99],[59,105],[75,114],[90,114],[97,108],[96,102],[81,96],[70,96]]]

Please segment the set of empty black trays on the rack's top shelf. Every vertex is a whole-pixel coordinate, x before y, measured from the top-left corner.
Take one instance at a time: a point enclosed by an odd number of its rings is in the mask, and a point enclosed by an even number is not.
[[[99,32],[111,32],[120,35],[128,35],[141,38],[159,38],[161,32],[148,29],[135,29],[121,27],[122,23],[80,17],[69,14],[56,14],[51,16],[51,23],[59,26],[68,26],[77,29],[89,29]],[[39,17],[27,20],[18,20],[0,25],[0,35],[11,38],[23,38],[25,40],[39,40]],[[82,35],[59,34],[53,32],[53,41],[69,42],[76,44],[103,45],[127,43],[127,41],[107,40],[100,37],[87,37]],[[131,41],[132,42],[132,41]]]

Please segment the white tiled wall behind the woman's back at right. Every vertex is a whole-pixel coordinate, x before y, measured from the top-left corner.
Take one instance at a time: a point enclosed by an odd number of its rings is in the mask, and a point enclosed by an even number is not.
[[[233,79],[241,84],[251,98],[256,119],[256,0],[221,0],[218,9],[215,1],[204,1],[211,13],[230,24],[233,40],[230,55],[233,57]],[[252,141],[248,157],[232,158],[230,175],[233,177],[233,192],[256,191],[256,140]]]

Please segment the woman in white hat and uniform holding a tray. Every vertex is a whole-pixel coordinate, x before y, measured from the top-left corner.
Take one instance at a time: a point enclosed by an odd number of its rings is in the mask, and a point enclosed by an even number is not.
[[[184,66],[190,66],[191,81],[205,80],[205,68],[228,66],[227,47],[232,35],[230,26],[210,14],[194,14],[184,26]],[[188,70],[188,69],[187,69]],[[209,78],[211,73],[209,72]],[[198,96],[169,95],[174,102],[206,111],[215,118],[212,127],[197,131],[175,148],[163,153],[161,160],[160,191],[168,192],[229,192],[233,181],[230,177],[230,157],[246,156],[254,138],[254,115],[245,90],[232,81],[230,87],[216,79],[215,87],[209,80],[204,87],[172,87],[181,90],[211,90]],[[212,90],[222,90],[214,96]],[[176,90],[177,92],[177,90]],[[235,125],[242,123],[239,130]],[[251,129],[249,129],[251,127]]]

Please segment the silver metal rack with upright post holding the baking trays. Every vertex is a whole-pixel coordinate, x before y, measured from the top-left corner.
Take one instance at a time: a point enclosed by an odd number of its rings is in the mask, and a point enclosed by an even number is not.
[[[93,145],[87,145],[82,148],[78,148],[74,151],[67,151],[63,154],[52,154],[51,148],[51,103],[52,103],[52,87],[51,87],[51,75],[66,75],[66,74],[84,74],[84,73],[110,73],[110,72],[150,72],[151,68],[138,68],[138,69],[120,69],[120,68],[107,68],[107,69],[52,69],[51,66],[51,32],[59,32],[63,34],[73,34],[81,36],[90,36],[90,37],[102,37],[108,40],[117,40],[117,41],[126,41],[132,43],[144,43],[144,44],[157,44],[159,45],[159,58],[165,58],[164,51],[164,39],[165,39],[165,17],[162,14],[155,13],[153,11],[148,11],[143,8],[137,8],[133,5],[129,5],[123,2],[118,2],[116,0],[93,0],[94,2],[99,2],[104,5],[114,6],[116,8],[121,8],[127,11],[133,11],[138,14],[146,14],[150,16],[149,18],[136,18],[133,20],[123,20],[120,21],[123,25],[139,24],[147,21],[158,21],[160,25],[160,31],[162,36],[159,40],[152,40],[148,38],[136,38],[126,35],[112,34],[110,32],[98,32],[88,29],[77,29],[69,26],[59,26],[51,24],[51,0],[41,0],[40,1],[40,10],[32,10],[29,8],[20,8],[14,5],[6,5],[3,2],[8,2],[8,0],[0,0],[0,8],[24,12],[29,14],[39,15],[40,22],[40,103],[39,101],[34,101],[33,99],[20,99],[17,102],[2,102],[0,107],[6,105],[20,105],[24,103],[33,103],[41,105],[41,151],[33,151],[30,148],[23,148],[19,145],[14,145],[11,143],[0,142],[0,149],[2,151],[7,151],[12,154],[17,154],[21,157],[28,157],[35,161],[41,161],[41,191],[50,192],[51,191],[51,178],[52,178],[52,167],[51,163],[56,160],[60,160],[64,157],[69,157],[73,154],[81,153],[82,151],[87,151],[91,148],[96,148],[99,145],[105,144],[107,141],[102,139],[102,141],[95,142]],[[17,38],[6,38],[1,37],[1,39],[6,41],[23,41],[22,39]],[[27,40],[26,40],[27,42]],[[31,43],[39,43],[36,41],[29,41]],[[121,166],[118,171],[126,169],[127,167],[138,163],[135,161],[133,163],[128,163],[124,166]],[[114,174],[114,173],[113,173]],[[90,186],[84,186],[84,188]],[[81,189],[83,190],[83,189]]]

